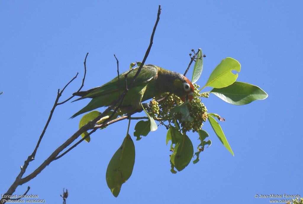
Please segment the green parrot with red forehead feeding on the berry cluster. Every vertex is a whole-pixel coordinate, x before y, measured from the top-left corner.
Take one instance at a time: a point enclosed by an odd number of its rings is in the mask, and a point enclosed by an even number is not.
[[[118,77],[115,77],[101,87],[74,93],[74,96],[80,96],[77,100],[84,98],[92,98],[92,100],[71,118],[96,108],[113,104],[118,100],[119,86],[120,94],[125,90],[125,74],[129,72],[126,78],[126,83],[129,84],[137,70],[138,67],[132,69],[130,72],[127,71],[120,74],[120,83],[118,82]],[[188,78],[179,73],[165,70],[154,65],[144,65],[138,77],[125,95],[120,110],[123,114],[132,112],[133,110],[141,108],[141,102],[166,92],[177,95],[182,101],[185,101],[187,98],[191,101],[193,98],[194,86]]]

